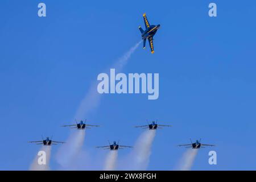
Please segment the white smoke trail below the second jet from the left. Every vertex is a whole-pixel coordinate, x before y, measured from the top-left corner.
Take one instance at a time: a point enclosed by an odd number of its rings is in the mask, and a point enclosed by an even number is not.
[[[79,155],[84,139],[85,130],[76,130],[71,133],[67,143],[60,147],[56,159],[63,169],[73,168],[75,164],[73,161],[75,161],[77,155]]]

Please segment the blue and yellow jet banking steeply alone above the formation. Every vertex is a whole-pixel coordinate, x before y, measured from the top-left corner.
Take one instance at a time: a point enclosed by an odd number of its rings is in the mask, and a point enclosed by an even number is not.
[[[141,26],[139,26],[139,30],[141,31],[141,37],[143,39],[143,49],[146,47],[146,40],[150,44],[151,53],[154,53],[154,45],[153,45],[153,36],[155,35],[156,31],[160,28],[160,24],[158,25],[150,25],[147,20],[146,13],[143,14],[144,24],[146,30],[143,30]]]

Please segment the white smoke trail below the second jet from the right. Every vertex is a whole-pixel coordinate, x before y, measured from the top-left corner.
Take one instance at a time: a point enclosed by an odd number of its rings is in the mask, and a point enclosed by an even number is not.
[[[125,170],[146,170],[150,162],[151,147],[155,138],[155,130],[144,131],[134,145],[133,151],[126,161]]]

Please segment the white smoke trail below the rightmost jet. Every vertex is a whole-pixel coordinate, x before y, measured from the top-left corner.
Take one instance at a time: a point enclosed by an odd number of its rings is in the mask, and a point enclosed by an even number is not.
[[[185,151],[183,154],[180,164],[179,164],[179,170],[180,171],[190,171],[192,168],[192,165],[194,163],[194,160],[196,158],[198,150],[189,148],[189,150]]]

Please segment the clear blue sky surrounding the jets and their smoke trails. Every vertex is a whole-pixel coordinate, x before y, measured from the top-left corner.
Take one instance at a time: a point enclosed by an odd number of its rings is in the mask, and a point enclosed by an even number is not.
[[[46,3],[46,18],[37,15],[39,2]],[[217,18],[208,16],[210,2],[217,3]],[[255,7],[253,0],[2,0],[0,169],[28,169],[39,150],[28,140],[68,138],[60,126],[72,122],[97,75],[141,40],[145,12],[162,26],[155,53],[141,45],[122,72],[159,73],[159,99],[104,95],[86,117],[103,126],[86,133],[84,148],[100,155],[94,146],[108,139],[133,145],[142,132],[133,126],[159,119],[174,127],[157,132],[148,169],[174,169],[185,151],[176,145],[189,138],[217,144],[217,165],[208,164],[213,148],[205,148],[192,169],[256,169]],[[120,158],[127,154],[119,151]]]

